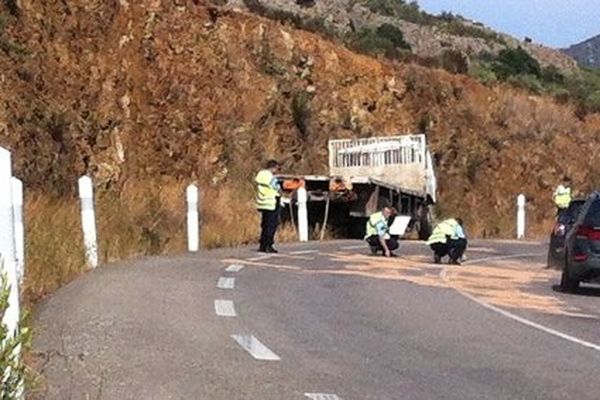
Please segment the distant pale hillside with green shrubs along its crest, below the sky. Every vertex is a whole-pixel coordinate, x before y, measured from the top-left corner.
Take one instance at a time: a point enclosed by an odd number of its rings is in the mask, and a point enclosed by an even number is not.
[[[444,58],[449,53],[464,54],[469,61],[481,55],[498,54],[506,48],[522,47],[542,66],[563,72],[577,69],[575,61],[560,50],[531,40],[519,40],[497,32],[482,23],[460,15],[439,16],[421,10],[408,0],[211,0],[214,4],[245,9],[279,20],[291,20],[311,31],[347,39],[352,33],[361,37],[363,47],[373,47],[378,39],[373,29],[383,24],[402,32],[413,55],[421,59]]]

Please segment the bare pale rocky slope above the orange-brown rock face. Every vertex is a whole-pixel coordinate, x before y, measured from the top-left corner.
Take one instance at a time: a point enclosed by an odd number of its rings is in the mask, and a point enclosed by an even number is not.
[[[481,29],[495,35],[498,40],[449,34],[437,26],[415,24],[398,18],[373,13],[356,0],[317,0],[312,6],[298,4],[295,0],[216,0],[219,4],[238,10],[256,11],[258,6],[274,14],[288,13],[305,20],[320,21],[330,29],[345,34],[363,26],[378,26],[384,23],[396,25],[410,43],[415,55],[422,58],[436,57],[448,49],[478,55],[483,52],[497,53],[506,48],[523,47],[543,66],[554,65],[564,71],[576,68],[575,61],[567,54],[530,40],[518,40],[512,36],[497,33],[472,21],[462,20],[465,26]]]

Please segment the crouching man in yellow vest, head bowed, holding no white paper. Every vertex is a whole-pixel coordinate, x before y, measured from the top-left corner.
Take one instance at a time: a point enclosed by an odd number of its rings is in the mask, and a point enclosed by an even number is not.
[[[460,218],[450,218],[440,222],[427,240],[433,251],[433,260],[436,264],[448,256],[450,264],[460,265],[460,260],[467,249],[467,237]]]

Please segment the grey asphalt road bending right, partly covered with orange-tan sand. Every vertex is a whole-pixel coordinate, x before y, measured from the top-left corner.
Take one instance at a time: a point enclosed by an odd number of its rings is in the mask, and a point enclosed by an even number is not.
[[[34,399],[598,399],[600,289],[536,243],[360,242],[99,268],[36,312]],[[243,266],[243,269],[240,269]],[[227,271],[229,269],[229,271]],[[221,279],[225,278],[225,279]]]

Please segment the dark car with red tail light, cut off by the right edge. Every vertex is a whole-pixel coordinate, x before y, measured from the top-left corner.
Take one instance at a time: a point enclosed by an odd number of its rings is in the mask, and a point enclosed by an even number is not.
[[[580,282],[600,277],[600,192],[591,194],[565,237],[560,287],[574,292]]]

